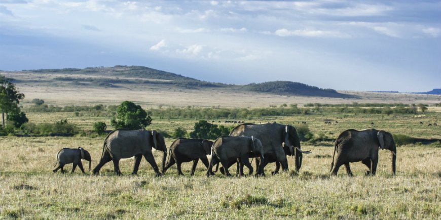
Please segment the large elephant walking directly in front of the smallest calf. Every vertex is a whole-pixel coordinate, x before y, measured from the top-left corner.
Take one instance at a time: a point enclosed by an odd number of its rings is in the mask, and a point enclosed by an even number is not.
[[[119,161],[122,158],[135,157],[132,175],[136,175],[141,162],[142,156],[147,160],[155,170],[157,176],[161,175],[155,158],[152,154],[152,147],[162,151],[162,168],[164,169],[165,159],[167,156],[167,147],[165,146],[164,137],[156,130],[148,131],[116,129],[107,135],[104,139],[101,160],[93,169],[93,173],[97,174],[101,167],[109,161],[114,162],[115,174],[121,175]]]

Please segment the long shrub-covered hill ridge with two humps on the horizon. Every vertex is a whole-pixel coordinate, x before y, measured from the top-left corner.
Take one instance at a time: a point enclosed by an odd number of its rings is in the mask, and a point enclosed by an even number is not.
[[[320,89],[316,86],[291,81],[271,81],[251,83],[247,85],[231,85],[207,82],[179,74],[152,69],[143,66],[88,67],[84,69],[38,69],[23,70],[33,73],[57,73],[63,76],[52,78],[54,81],[67,82],[77,86],[119,87],[124,84],[168,84],[186,89],[202,89],[203,87],[224,87],[251,92],[271,93],[277,95],[296,95],[332,98],[356,98],[340,94],[332,89]]]

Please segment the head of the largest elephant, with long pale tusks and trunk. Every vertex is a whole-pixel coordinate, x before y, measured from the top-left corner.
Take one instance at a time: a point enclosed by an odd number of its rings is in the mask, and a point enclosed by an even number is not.
[[[302,153],[309,154],[311,153],[311,151],[302,151],[300,149],[300,139],[299,136],[297,135],[297,130],[295,127],[291,125],[285,126],[284,139],[285,139],[284,147],[288,147],[290,151],[290,155],[296,157],[295,159],[296,170],[299,171],[300,167],[302,167],[302,158],[303,158]],[[294,150],[294,147],[296,147],[296,150]]]

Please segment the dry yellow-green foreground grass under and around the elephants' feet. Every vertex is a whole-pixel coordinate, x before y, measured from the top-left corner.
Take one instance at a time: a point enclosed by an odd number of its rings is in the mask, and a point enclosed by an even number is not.
[[[354,177],[342,167],[337,177],[328,174],[333,148],[304,146],[299,173],[293,171],[267,177],[225,178],[216,173],[205,177],[199,163],[190,177],[191,163],[155,178],[143,160],[137,176],[129,175],[133,159],[121,161],[122,177],[106,164],[95,176],[52,173],[55,154],[62,147],[82,146],[93,158],[101,155],[103,138],[0,138],[0,218],[426,218],[441,217],[440,169],[436,164],[441,148],[400,147],[397,175],[390,170],[390,153],[380,151],[376,177],[365,177],[366,167],[352,163]],[[172,140],[167,140],[167,145]],[[321,156],[314,156],[321,155]],[[161,153],[155,152],[157,163]],[[70,170],[71,165],[66,165]],[[266,168],[269,174],[274,164]],[[234,172],[234,167],[232,167]]]

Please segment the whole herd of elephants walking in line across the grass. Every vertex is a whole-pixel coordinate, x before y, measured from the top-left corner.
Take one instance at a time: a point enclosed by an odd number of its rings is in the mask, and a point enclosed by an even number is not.
[[[153,148],[162,151],[161,172],[153,157]],[[347,173],[352,175],[349,163],[361,161],[369,168],[365,174],[375,175],[379,149],[388,149],[392,152],[392,172],[395,174],[396,146],[390,133],[376,129],[345,130],[335,142],[331,173],[336,175],[340,166],[345,165]],[[334,161],[336,152],[337,158]],[[233,164],[236,164],[237,174],[244,175],[243,166],[249,169],[248,174],[252,174],[254,169],[249,158],[255,158],[255,175],[265,175],[265,166],[273,162],[276,164],[276,169],[271,173],[276,174],[280,166],[282,170],[288,170],[287,156],[295,157],[296,171],[299,171],[303,154],[309,154],[311,151],[301,150],[297,130],[291,125],[243,123],[233,128],[229,136],[219,137],[214,142],[179,138],[171,144],[168,153],[168,159],[166,159],[167,147],[164,137],[156,130],[117,129],[104,139],[101,158],[99,164],[93,169],[93,173],[98,174],[104,164],[112,161],[115,174],[121,175],[119,161],[134,157],[132,174],[136,174],[141,159],[144,157],[153,167],[156,175],[164,174],[175,163],[178,174],[183,175],[181,163],[191,161],[193,161],[191,170],[191,175],[193,175],[199,160],[207,167],[207,176],[213,175],[217,170],[225,175],[231,175],[229,168]],[[64,172],[64,165],[73,163],[72,172],[78,165],[84,173],[82,159],[89,161],[90,171],[92,159],[88,151],[81,147],[78,149],[63,148],[57,154],[58,167],[53,171],[61,169],[61,172]],[[218,168],[219,163],[222,165],[220,168]],[[214,166],[216,168],[213,171]]]

